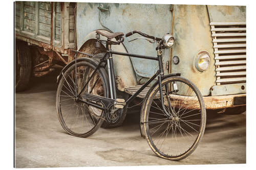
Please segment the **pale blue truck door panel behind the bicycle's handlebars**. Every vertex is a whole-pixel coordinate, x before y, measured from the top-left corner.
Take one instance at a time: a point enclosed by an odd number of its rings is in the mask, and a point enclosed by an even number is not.
[[[146,34],[156,37],[163,37],[171,32],[172,12],[170,5],[165,4],[101,4],[103,8],[109,11],[99,11],[99,19],[102,25],[113,32],[128,33],[133,30],[139,30]],[[156,45],[148,43],[145,40],[136,40],[128,42],[136,37],[135,34],[125,38],[124,45],[129,53],[157,56]],[[158,62],[140,58],[131,57],[134,70],[141,77],[152,77],[158,70]],[[166,61],[169,60],[169,50],[165,50],[164,68]]]

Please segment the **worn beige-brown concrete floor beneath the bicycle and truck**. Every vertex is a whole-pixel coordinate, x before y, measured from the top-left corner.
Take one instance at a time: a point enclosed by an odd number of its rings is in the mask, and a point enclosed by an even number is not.
[[[246,163],[245,113],[207,112],[199,147],[181,161],[155,156],[140,136],[139,112],[128,113],[119,128],[101,128],[88,138],[68,135],[56,114],[56,75],[33,78],[29,90],[16,93],[15,167]]]

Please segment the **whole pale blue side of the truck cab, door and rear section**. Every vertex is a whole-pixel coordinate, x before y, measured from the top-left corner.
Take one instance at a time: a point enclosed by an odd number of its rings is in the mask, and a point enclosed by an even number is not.
[[[100,11],[97,7],[102,6],[108,11]],[[146,34],[162,37],[170,33],[172,12],[170,5],[155,4],[77,4],[77,44],[78,48],[84,43],[83,38],[87,34],[98,29],[109,29],[112,32],[124,34],[133,30],[139,30]],[[80,29],[79,29],[80,28]],[[134,35],[125,38],[123,44],[129,53],[156,56],[155,45],[145,40],[128,42]],[[169,51],[165,51],[164,64],[169,59]],[[137,75],[150,78],[158,69],[157,61],[132,58],[134,70]],[[125,64],[125,63],[123,63]],[[168,72],[167,70],[165,70]]]

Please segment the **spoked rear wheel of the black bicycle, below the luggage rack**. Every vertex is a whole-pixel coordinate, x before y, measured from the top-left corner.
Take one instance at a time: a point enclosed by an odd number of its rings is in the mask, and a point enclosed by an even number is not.
[[[87,61],[80,61],[76,66],[73,64],[65,71],[58,85],[56,94],[58,119],[63,129],[73,136],[92,135],[105,118],[104,111],[75,99],[75,95],[81,91],[90,77],[92,78],[81,96],[84,93],[109,96],[105,70],[100,68],[92,76],[95,69],[95,65]]]

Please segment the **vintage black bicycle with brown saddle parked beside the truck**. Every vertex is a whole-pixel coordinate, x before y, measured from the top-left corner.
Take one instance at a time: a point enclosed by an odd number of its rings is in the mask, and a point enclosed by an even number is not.
[[[106,53],[75,52],[75,60],[62,69],[57,78],[56,107],[59,122],[70,135],[88,137],[104,121],[114,123],[127,105],[156,78],[148,90],[141,108],[141,132],[152,151],[159,157],[181,160],[194,152],[202,139],[206,124],[206,110],[199,89],[180,74],[164,75],[162,53],[173,46],[175,39],[166,34],[163,38],[132,31],[125,35],[140,34],[140,38],[156,43],[157,57],[112,51],[124,34],[96,31],[95,47],[106,44]],[[107,40],[101,40],[105,36]],[[115,38],[116,41],[112,41]],[[131,40],[131,41],[133,41]],[[89,57],[76,58],[77,54]],[[118,99],[112,55],[156,60],[159,70],[129,99]],[[106,73],[108,70],[108,74]]]

